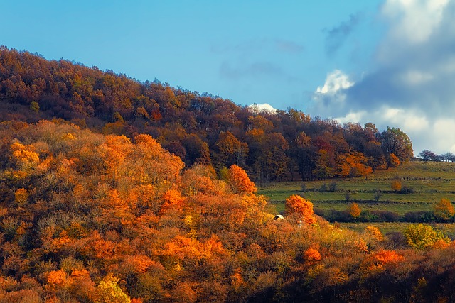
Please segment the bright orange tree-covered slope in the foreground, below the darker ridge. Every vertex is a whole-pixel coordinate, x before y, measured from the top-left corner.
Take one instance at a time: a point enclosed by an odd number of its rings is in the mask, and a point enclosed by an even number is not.
[[[275,221],[240,167],[182,170],[147,135],[50,121],[0,135],[1,302],[453,299],[455,246],[432,229],[411,249],[311,211]]]

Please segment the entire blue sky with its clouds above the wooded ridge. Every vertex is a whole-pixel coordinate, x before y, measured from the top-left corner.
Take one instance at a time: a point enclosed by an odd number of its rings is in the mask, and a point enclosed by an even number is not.
[[[8,48],[455,153],[455,0],[2,2]]]

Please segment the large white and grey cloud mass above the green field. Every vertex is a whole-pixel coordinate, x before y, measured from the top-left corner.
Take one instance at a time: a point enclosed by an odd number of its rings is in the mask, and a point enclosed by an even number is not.
[[[310,114],[400,127],[415,154],[455,153],[454,1],[387,0],[379,16],[388,30],[374,62],[360,76],[329,72]]]

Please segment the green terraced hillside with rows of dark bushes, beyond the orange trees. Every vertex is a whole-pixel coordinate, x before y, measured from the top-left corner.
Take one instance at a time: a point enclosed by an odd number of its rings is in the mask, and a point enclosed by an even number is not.
[[[455,200],[455,163],[404,162],[389,170],[380,170],[368,176],[333,179],[326,181],[281,182],[264,184],[259,193],[264,194],[284,211],[284,200],[299,194],[314,203],[317,214],[329,221],[349,222],[449,222],[434,216],[434,206],[441,199]],[[397,180],[400,189],[392,189]],[[358,218],[348,214],[355,202],[362,213]]]

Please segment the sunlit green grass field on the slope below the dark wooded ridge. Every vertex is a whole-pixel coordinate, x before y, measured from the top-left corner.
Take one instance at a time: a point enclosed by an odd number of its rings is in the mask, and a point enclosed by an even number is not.
[[[393,191],[390,182],[394,178],[400,178],[402,187],[411,189],[412,193]],[[321,191],[324,184],[326,191]],[[330,187],[336,189],[330,191]],[[393,211],[399,215],[409,211],[432,211],[434,204],[442,198],[455,201],[455,163],[405,162],[400,167],[375,172],[368,180],[358,177],[275,182],[259,186],[259,194],[268,197],[278,212],[284,211],[284,200],[292,194],[301,195],[313,202],[315,209],[324,211],[346,210],[352,202],[357,202],[363,211]]]

